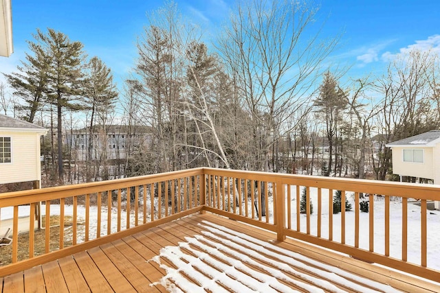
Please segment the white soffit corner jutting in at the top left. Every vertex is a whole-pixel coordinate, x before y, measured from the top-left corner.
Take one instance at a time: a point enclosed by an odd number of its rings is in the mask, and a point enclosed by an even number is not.
[[[13,50],[11,0],[0,0],[0,56],[9,57]]]

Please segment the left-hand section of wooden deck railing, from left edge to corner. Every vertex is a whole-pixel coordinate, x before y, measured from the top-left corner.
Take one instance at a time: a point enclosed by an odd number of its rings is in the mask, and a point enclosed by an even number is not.
[[[0,194],[2,218],[13,211],[0,222],[12,228],[0,276],[200,211],[203,178],[199,168]]]

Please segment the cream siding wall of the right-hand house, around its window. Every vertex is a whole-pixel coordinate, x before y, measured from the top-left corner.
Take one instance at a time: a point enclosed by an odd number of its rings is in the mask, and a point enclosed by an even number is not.
[[[403,150],[415,149],[424,150],[423,163],[404,162]],[[436,153],[437,152],[438,151],[436,151]],[[397,146],[393,146],[393,174],[434,179],[434,160],[432,160],[432,156],[433,148],[421,148],[418,146],[414,146],[413,148],[399,148]],[[440,159],[440,156],[438,157]]]

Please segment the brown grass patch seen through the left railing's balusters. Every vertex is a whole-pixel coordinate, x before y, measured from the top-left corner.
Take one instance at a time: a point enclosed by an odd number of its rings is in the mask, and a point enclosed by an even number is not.
[[[45,216],[43,216],[42,226],[45,225]],[[72,216],[65,216],[63,231],[64,247],[72,246],[73,239],[73,218]],[[77,226],[83,226],[84,222],[77,222]],[[49,250],[59,250],[60,249],[60,216],[51,215],[50,216],[50,240],[49,240]],[[34,232],[34,256],[45,254],[45,244],[46,244],[46,229],[41,228],[41,230],[36,230]],[[18,248],[18,260],[24,260],[29,258],[29,232],[19,234],[19,248]],[[12,244],[8,246],[0,247],[0,266],[5,266],[12,263]]]

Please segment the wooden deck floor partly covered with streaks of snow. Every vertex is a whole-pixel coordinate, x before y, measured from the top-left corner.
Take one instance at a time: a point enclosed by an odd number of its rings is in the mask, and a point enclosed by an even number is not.
[[[274,233],[210,213],[0,279],[0,292],[167,292],[173,287],[184,292],[440,292],[440,283],[293,239],[276,242]]]

